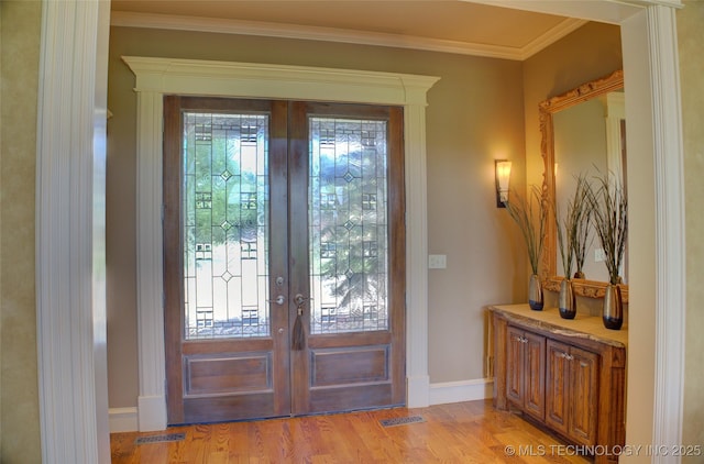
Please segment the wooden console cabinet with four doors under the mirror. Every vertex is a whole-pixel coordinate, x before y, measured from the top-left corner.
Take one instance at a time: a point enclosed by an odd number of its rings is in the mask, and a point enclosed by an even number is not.
[[[557,309],[490,307],[494,335],[494,406],[522,411],[569,443],[618,462],[625,443],[627,330],[601,318],[560,318]]]

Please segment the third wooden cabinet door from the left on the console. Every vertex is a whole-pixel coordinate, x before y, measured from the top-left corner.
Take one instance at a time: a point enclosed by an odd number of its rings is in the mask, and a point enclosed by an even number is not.
[[[548,340],[547,352],[546,423],[566,435],[570,409],[570,347]]]

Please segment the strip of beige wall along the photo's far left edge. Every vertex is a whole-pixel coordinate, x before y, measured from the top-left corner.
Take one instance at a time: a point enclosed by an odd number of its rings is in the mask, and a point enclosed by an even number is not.
[[[0,462],[40,463],[34,168],[42,7],[0,2]]]

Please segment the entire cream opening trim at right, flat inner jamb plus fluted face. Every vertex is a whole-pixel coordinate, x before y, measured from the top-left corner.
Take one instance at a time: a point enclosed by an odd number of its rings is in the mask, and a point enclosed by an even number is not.
[[[624,20],[628,121],[629,256],[626,441],[682,444],[685,243],[675,9],[653,4]],[[623,456],[680,462],[679,456]]]

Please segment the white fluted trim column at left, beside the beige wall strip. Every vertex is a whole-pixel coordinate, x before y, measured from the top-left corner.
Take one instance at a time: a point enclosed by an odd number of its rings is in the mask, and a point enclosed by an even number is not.
[[[109,2],[44,1],[36,325],[44,463],[109,463],[105,167]]]

